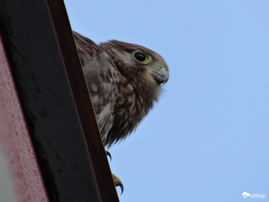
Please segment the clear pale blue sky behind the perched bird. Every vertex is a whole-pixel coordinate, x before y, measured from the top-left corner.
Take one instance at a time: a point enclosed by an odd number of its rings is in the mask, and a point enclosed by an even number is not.
[[[269,201],[269,1],[65,3],[76,32],[170,68],[154,109],[109,149],[121,202]]]

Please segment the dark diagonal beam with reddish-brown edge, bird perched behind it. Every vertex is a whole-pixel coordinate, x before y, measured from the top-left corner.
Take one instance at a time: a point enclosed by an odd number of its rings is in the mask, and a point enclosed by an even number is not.
[[[0,20],[50,201],[119,201],[63,0],[0,0]]]

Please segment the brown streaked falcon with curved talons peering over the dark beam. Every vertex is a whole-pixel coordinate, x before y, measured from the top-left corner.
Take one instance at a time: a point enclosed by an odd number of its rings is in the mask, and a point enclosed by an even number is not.
[[[169,78],[168,65],[143,46],[117,40],[97,45],[75,31],[73,35],[101,138],[109,148],[128,137],[158,101]],[[123,192],[122,182],[112,177]]]

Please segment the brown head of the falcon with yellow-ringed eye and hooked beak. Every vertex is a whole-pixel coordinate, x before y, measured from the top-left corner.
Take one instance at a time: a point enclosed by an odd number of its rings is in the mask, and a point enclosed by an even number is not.
[[[141,81],[143,77],[154,85],[168,81],[168,65],[158,53],[143,46],[116,40],[102,43],[101,46],[129,80],[140,78],[136,80]]]

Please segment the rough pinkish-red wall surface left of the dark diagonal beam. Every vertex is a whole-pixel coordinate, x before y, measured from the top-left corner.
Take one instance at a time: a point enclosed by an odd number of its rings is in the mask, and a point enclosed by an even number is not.
[[[0,144],[17,201],[49,201],[1,36]]]

